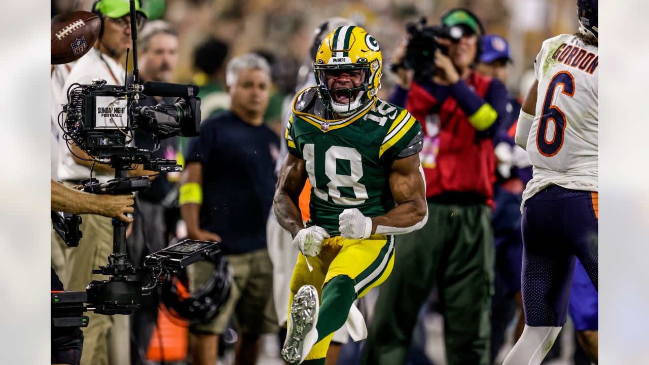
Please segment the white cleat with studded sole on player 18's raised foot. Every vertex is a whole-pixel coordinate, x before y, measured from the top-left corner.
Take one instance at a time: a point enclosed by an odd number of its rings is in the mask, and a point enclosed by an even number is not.
[[[312,285],[304,285],[293,297],[282,359],[289,365],[302,364],[318,340],[315,325],[318,322],[320,303],[318,292]]]

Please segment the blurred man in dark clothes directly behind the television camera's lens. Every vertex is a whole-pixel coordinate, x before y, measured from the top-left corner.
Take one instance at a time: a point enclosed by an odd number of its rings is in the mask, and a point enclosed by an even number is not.
[[[141,82],[171,81],[171,75],[178,64],[178,34],[169,23],[162,20],[147,23],[138,33],[138,51]],[[132,80],[133,76],[129,75],[127,83]],[[175,99],[175,97],[141,97],[138,106],[153,107],[158,103],[173,105]],[[151,133],[141,129],[136,129],[133,134],[134,145],[153,151],[150,156],[152,159],[176,159],[176,137],[156,141]],[[132,225],[132,233],[127,238],[127,253],[135,267],[142,267],[146,255],[167,247],[167,242],[169,242],[166,235],[163,201],[172,190],[172,174],[162,174],[152,181],[151,188],[136,194],[133,213],[135,220]],[[140,280],[146,283],[148,278],[141,275]],[[151,294],[142,296],[141,308],[130,316],[132,365],[147,363],[147,348],[157,318],[158,292],[154,290]]]

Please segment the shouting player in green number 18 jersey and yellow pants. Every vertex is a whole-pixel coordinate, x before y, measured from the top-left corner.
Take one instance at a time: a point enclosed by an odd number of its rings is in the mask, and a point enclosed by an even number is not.
[[[282,349],[291,365],[324,364],[332,334],[346,321],[354,340],[367,335],[354,299],[389,276],[394,235],[419,229],[428,217],[421,125],[376,97],[382,66],[371,34],[339,27],[317,51],[317,86],[293,103],[289,155],[274,204],[278,223],[300,251]],[[298,197],[307,177],[311,220],[305,228]]]

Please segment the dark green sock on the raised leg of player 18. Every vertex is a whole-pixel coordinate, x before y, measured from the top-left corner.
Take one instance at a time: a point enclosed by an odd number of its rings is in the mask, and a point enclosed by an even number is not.
[[[320,306],[318,323],[315,325],[318,330],[318,342],[343,327],[354,299],[354,281],[349,276],[338,275],[324,285],[323,303]]]

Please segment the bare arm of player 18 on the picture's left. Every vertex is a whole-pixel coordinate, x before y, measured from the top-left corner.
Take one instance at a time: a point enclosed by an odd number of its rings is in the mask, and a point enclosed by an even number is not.
[[[298,199],[304,188],[304,183],[306,183],[304,160],[289,153],[284,159],[279,173],[273,198],[273,211],[277,222],[289,231],[293,238],[300,229],[304,229],[302,214],[298,208]]]

